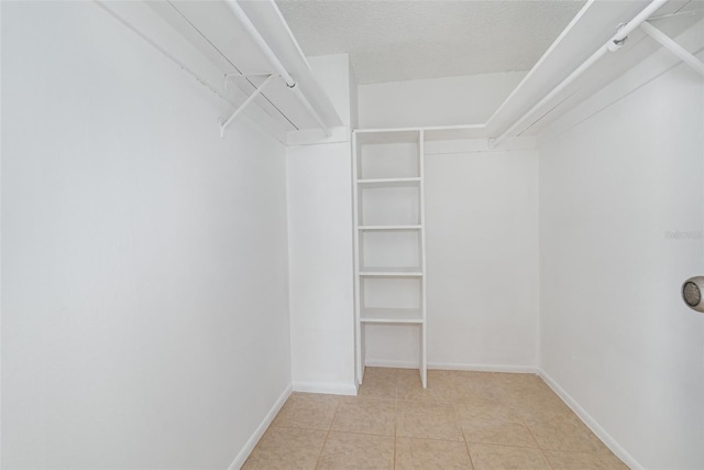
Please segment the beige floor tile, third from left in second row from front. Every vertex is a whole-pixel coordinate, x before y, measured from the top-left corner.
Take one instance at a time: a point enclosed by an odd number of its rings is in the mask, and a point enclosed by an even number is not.
[[[438,440],[463,440],[452,404],[407,402],[396,404],[396,436]]]

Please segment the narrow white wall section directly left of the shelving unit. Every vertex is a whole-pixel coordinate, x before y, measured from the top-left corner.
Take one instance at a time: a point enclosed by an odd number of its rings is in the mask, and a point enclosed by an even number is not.
[[[348,55],[308,61],[349,125]],[[292,373],[298,391],[356,393],[350,159],[349,138],[286,151]]]

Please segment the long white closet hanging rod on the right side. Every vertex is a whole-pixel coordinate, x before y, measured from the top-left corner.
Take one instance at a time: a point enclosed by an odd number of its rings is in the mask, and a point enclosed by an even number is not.
[[[626,23],[623,28],[618,30],[616,34],[612,36],[606,43],[601,46],[594,54],[592,54],[582,65],[580,65],[574,72],[572,72],[565,79],[560,81],[560,84],[554,87],[548,95],[546,95],[540,101],[538,101],[532,108],[530,108],[524,116],[518,118],[514,123],[506,129],[496,139],[490,140],[491,146],[495,147],[501,142],[503,142],[512,132],[516,130],[526,119],[532,116],[538,109],[544,106],[546,102],[550,101],[554,98],[560,91],[566,88],[570,84],[572,84],[580,75],[586,72],[596,61],[602,58],[607,52],[616,52],[618,51],[628,34],[634,32],[636,28],[640,26],[647,19],[649,19],[656,11],[660,9],[663,4],[666,4],[668,0],[653,0],[650,2],[640,13],[634,17],[628,23]]]

